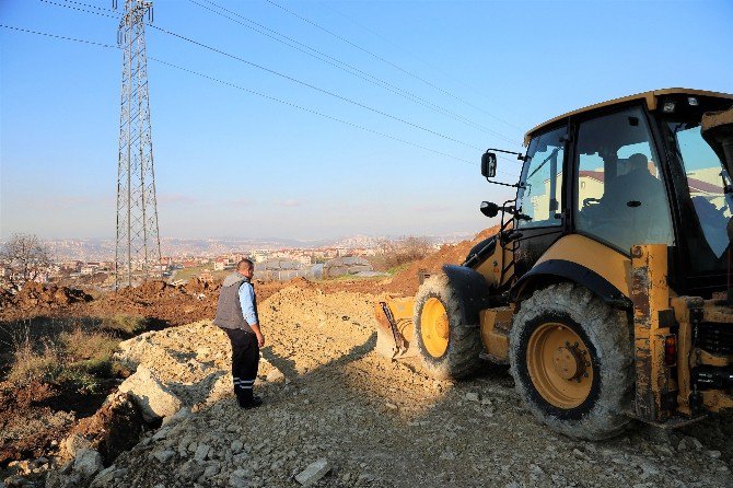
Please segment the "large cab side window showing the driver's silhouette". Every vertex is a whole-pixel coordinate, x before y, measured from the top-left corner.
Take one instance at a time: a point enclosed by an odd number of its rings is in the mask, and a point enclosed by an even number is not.
[[[626,253],[635,244],[673,244],[670,206],[651,141],[638,107],[580,125],[578,231]]]

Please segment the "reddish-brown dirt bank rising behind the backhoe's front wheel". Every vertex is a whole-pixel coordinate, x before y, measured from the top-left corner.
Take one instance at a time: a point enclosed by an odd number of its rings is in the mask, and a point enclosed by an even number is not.
[[[479,232],[472,240],[441,246],[435,253],[429,254],[424,258],[411,263],[406,269],[403,269],[395,275],[392,281],[386,283],[384,290],[402,295],[414,295],[420,287],[420,279],[418,276],[420,270],[424,269],[428,274],[434,274],[439,272],[444,264],[462,264],[472,247],[496,234],[498,231],[499,226],[495,225]]]

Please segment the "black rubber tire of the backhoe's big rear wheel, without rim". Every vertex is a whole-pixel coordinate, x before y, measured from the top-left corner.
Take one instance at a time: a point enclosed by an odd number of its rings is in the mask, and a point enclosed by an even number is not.
[[[574,408],[552,405],[530,375],[530,338],[548,323],[559,323],[574,332],[587,347],[593,364],[590,393]],[[509,342],[510,371],[516,391],[540,422],[566,435],[586,440],[616,435],[630,423],[625,411],[633,394],[633,341],[626,312],[612,309],[583,287],[552,284],[521,303]]]

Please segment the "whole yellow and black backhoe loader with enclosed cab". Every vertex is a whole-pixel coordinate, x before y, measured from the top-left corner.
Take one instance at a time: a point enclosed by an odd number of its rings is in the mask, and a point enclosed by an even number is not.
[[[733,407],[733,95],[640,93],[542,124],[500,231],[415,298],[376,304],[377,348],[437,377],[509,364],[527,408],[582,439]]]

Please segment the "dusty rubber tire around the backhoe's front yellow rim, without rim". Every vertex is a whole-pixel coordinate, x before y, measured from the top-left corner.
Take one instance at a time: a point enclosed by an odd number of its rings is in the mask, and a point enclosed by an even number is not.
[[[422,313],[430,299],[438,299],[445,309],[449,322],[447,347],[434,357],[423,341]],[[428,278],[415,297],[415,339],[426,370],[441,380],[458,380],[474,373],[481,363],[480,329],[477,324],[464,323],[463,303],[444,274]]]

